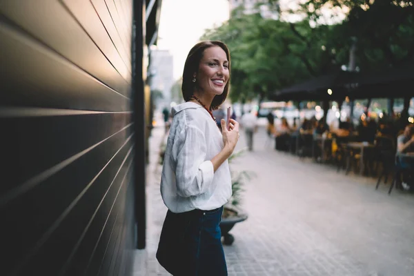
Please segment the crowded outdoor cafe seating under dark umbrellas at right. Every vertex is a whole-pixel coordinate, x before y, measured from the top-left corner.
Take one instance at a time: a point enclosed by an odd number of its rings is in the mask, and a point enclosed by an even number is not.
[[[338,172],[377,177],[377,187],[389,178],[388,193],[394,186],[404,189],[406,181],[413,183],[414,150],[400,152],[397,139],[414,135],[404,132],[406,126],[414,130],[413,87],[414,65],[408,64],[375,74],[333,72],[276,91],[273,100],[315,106],[316,112],[309,118],[299,110],[293,126],[282,117],[275,149],[331,164]]]

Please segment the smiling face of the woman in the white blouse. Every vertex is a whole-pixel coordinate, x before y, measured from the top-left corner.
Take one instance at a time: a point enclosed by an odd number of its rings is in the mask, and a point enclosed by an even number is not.
[[[199,70],[193,77],[197,79],[197,86],[202,92],[221,95],[230,77],[226,52],[219,46],[204,50],[199,64]]]

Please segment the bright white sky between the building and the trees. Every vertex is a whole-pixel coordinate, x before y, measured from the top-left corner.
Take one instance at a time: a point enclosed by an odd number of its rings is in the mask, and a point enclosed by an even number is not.
[[[174,79],[179,79],[190,49],[204,30],[228,20],[228,0],[163,0],[159,18],[158,48],[174,59]]]

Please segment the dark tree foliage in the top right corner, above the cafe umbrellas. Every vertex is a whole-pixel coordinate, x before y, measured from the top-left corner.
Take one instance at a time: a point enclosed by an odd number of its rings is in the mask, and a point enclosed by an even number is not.
[[[339,41],[357,40],[357,63],[364,71],[414,61],[413,0],[307,0],[300,12],[318,22],[327,8],[348,11],[337,26]]]

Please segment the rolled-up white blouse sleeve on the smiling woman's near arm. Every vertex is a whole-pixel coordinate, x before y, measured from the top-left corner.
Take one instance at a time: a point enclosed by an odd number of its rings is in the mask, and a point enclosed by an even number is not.
[[[213,182],[214,168],[206,160],[206,138],[204,132],[195,126],[186,126],[180,133],[172,157],[175,170],[177,193],[181,197],[201,195]]]

